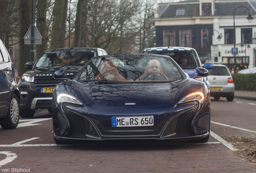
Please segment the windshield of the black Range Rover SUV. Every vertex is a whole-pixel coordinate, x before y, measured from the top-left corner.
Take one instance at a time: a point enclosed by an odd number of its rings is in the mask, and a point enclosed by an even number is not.
[[[86,64],[96,55],[94,50],[45,52],[37,61],[34,68]]]

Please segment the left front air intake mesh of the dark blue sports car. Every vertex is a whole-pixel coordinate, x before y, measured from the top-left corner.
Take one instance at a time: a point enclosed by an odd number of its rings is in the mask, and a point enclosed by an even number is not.
[[[83,121],[81,120],[80,117],[78,117],[74,113],[68,111],[68,109],[66,107],[67,105],[70,105],[70,104],[66,104],[66,103],[63,104],[63,111],[70,123],[70,127],[71,127],[70,135],[86,135],[85,126],[83,125]]]

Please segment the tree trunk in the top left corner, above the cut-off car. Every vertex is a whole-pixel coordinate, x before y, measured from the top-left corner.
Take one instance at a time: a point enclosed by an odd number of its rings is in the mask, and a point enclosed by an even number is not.
[[[2,42],[4,42],[7,7],[8,1],[0,0],[0,39],[2,40]]]

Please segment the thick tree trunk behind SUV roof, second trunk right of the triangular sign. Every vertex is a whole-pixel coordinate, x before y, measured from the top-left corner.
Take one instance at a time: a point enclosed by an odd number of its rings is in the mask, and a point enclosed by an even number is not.
[[[67,10],[68,0],[64,0],[64,3],[63,0],[55,1],[53,8],[52,38],[50,49],[63,48],[65,45]]]

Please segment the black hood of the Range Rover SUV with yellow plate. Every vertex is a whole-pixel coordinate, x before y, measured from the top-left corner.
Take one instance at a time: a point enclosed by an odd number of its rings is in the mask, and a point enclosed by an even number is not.
[[[51,74],[53,75],[54,72],[57,70],[66,70],[68,72],[72,72],[72,75],[76,75],[76,73],[82,68],[83,66],[53,66],[53,67],[44,67],[44,68],[35,68],[33,70],[29,70],[26,73],[29,74]]]

